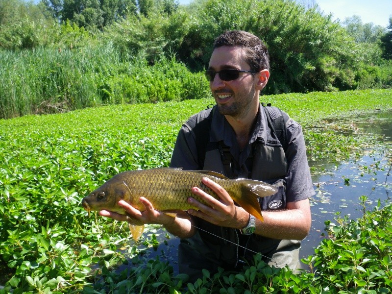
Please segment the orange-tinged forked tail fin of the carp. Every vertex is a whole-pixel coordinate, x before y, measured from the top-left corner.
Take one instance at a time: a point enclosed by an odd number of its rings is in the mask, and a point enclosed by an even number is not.
[[[260,203],[257,200],[257,197],[273,195],[277,192],[276,188],[270,184],[256,180],[239,179],[239,181],[241,181],[241,195],[236,197],[234,201],[236,201],[248,213],[255,216],[260,221],[263,221]]]

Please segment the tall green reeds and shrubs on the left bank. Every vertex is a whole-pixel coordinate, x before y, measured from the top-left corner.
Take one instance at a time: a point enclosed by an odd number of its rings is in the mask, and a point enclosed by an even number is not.
[[[71,40],[84,31],[67,25]],[[71,36],[71,34],[66,34]],[[72,41],[72,42],[71,42]],[[202,73],[190,73],[173,59],[154,66],[143,58],[121,59],[112,44],[78,49],[0,51],[0,117],[53,113],[101,104],[158,102],[209,96]]]

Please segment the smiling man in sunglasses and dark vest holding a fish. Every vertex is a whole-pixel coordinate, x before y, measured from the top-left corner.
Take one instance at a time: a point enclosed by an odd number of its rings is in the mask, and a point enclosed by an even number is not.
[[[278,193],[259,200],[264,221],[237,206],[221,186],[207,178],[203,183],[220,200],[193,188],[192,192],[208,205],[189,198],[189,203],[197,207],[188,211],[190,220],[156,211],[143,197],[144,212],[124,201],[119,204],[132,218],[163,224],[181,238],[179,269],[188,273],[191,281],[201,276],[202,269],[239,269],[254,254],[261,254],[271,266],[288,265],[295,270],[300,240],[307,236],[311,225],[308,198],[314,195],[314,189],[300,125],[292,119],[285,122],[288,144],[284,149],[260,105],[260,91],[270,77],[267,49],[250,33],[225,32],[215,40],[206,76],[217,106],[200,112],[182,126],[171,167],[212,170],[231,178],[247,177],[274,184]],[[198,127],[202,122],[209,124],[207,137],[203,134],[206,131]],[[208,140],[202,152],[200,140]],[[100,214],[126,220],[112,212]]]

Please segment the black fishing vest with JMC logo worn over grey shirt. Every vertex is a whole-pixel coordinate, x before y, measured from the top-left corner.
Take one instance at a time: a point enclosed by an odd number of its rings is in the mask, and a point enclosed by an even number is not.
[[[214,108],[199,113],[196,118],[195,135],[200,169],[220,172],[229,178],[236,178],[233,172],[233,156],[223,142],[208,142]],[[258,198],[262,210],[279,210],[286,208],[286,183],[285,176],[288,170],[287,158],[287,130],[288,115],[276,107],[261,107],[261,115],[268,122],[266,142],[258,139],[252,144],[252,151],[248,157],[251,162],[251,175],[249,178],[261,180],[274,185],[278,192],[272,196]],[[208,134],[207,134],[208,132]],[[282,142],[281,142],[282,141]],[[250,250],[245,250],[243,255],[251,259],[251,251],[268,255],[274,252],[280,240],[270,239],[259,235],[241,235],[239,230],[221,227],[207,221],[198,219],[197,226],[203,242],[210,249],[215,258],[222,261],[222,267],[237,265],[239,246],[241,244]],[[278,237],[278,236],[277,236]],[[234,243],[234,244],[233,244]],[[241,251],[241,250],[240,250]]]

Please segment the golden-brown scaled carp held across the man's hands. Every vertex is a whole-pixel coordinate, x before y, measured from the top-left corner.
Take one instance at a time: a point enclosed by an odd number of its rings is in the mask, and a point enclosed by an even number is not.
[[[198,187],[207,194],[219,199],[219,196],[202,183],[207,177],[221,185],[230,197],[249,214],[263,221],[258,197],[273,195],[276,188],[268,183],[252,179],[229,179],[221,173],[212,171],[188,171],[181,168],[156,168],[120,172],[107,180],[102,186],[82,199],[81,205],[90,211],[109,210],[126,215],[117,203],[124,200],[139,211],[145,207],[140,197],[148,199],[156,210],[172,215],[171,211],[197,209],[187,199],[193,197],[203,204],[204,200],[192,193]],[[129,229],[135,241],[144,231],[144,223],[128,216]]]

